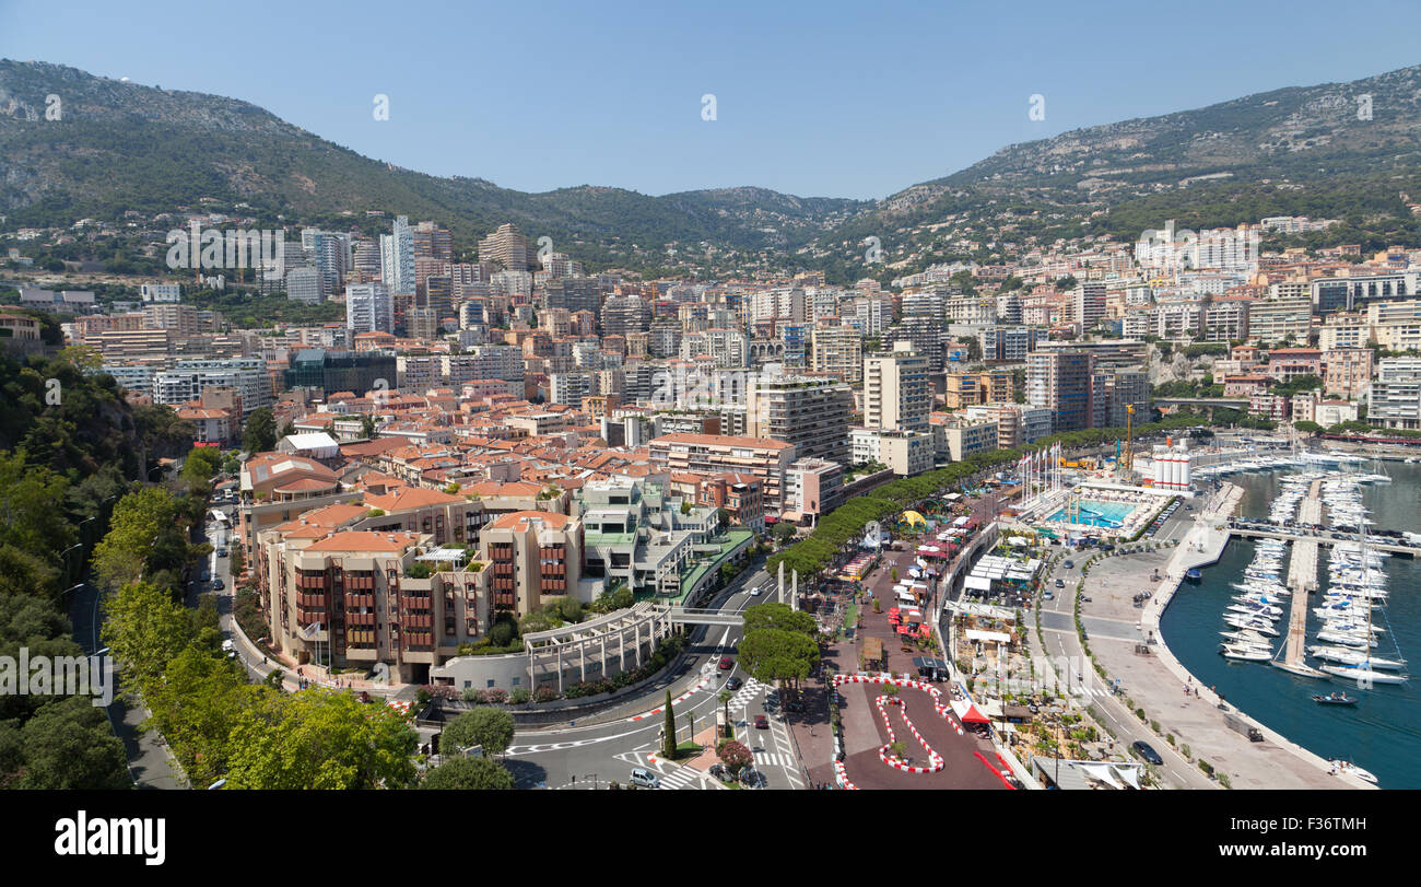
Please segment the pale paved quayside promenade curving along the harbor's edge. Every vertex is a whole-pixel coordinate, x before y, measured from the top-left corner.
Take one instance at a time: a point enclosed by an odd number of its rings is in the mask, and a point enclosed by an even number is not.
[[[1154,539],[1158,542],[1167,542],[1172,539],[1182,537],[1188,532],[1194,522],[1194,512],[1185,510],[1182,507],[1177,509],[1175,513],[1165,520],[1164,526],[1155,533]],[[1080,638],[1076,635],[1076,620],[1074,620],[1074,606],[1076,600],[1073,597],[1076,583],[1080,581],[1081,573],[1080,566],[1090,557],[1090,549],[1083,552],[1067,552],[1066,557],[1057,561],[1056,569],[1047,574],[1046,587],[1054,591],[1054,600],[1040,601],[1040,617],[1042,617],[1042,635],[1046,640],[1046,655],[1053,660],[1054,657],[1064,657],[1066,661],[1079,662],[1077,672],[1080,678],[1074,674],[1060,674],[1057,678],[1063,685],[1073,687],[1081,691],[1081,702],[1090,705],[1096,709],[1097,715],[1104,725],[1114,733],[1115,742],[1130,745],[1135,741],[1148,742],[1152,749],[1155,749],[1164,759],[1164,766],[1157,766],[1155,773],[1162,782],[1172,787],[1184,789],[1215,789],[1218,787],[1208,776],[1201,773],[1198,768],[1187,762],[1178,752],[1169,748],[1167,742],[1161,742],[1158,736],[1150,732],[1150,728],[1140,722],[1138,718],[1131,714],[1124,702],[1111,694],[1107,688],[1101,685],[1100,677],[1090,667],[1090,661],[1086,658],[1084,650],[1081,650]],[[1073,566],[1066,569],[1066,561],[1070,560]],[[1064,581],[1066,588],[1057,590],[1056,579]],[[1087,580],[1086,597],[1090,597],[1090,581]],[[1131,637],[1140,638],[1140,633],[1134,630],[1133,625],[1120,623],[1118,620],[1094,620],[1088,617],[1088,603],[1081,606],[1081,621],[1086,624],[1086,637],[1094,637],[1097,631],[1108,637]],[[1108,623],[1108,625],[1106,624]],[[1032,633],[1032,643],[1036,644],[1036,634]],[[1128,688],[1125,688],[1128,692]]]

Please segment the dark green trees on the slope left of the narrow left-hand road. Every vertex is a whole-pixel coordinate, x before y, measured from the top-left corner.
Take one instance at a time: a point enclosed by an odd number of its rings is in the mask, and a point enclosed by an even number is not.
[[[41,316],[41,341],[57,344]],[[131,407],[108,375],[64,350],[0,351],[0,655],[82,657],[65,614],[114,503],[159,456],[180,455],[189,424]],[[14,675],[10,675],[13,678]],[[88,697],[0,692],[0,787],[121,789],[124,746]]]

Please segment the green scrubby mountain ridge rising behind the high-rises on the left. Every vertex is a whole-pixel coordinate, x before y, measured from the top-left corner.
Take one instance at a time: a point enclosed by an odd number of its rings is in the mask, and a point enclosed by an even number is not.
[[[60,119],[45,98],[60,97]],[[760,188],[648,196],[584,185],[546,193],[402,169],[328,142],[249,102],[0,60],[0,212],[20,225],[145,215],[210,198],[320,222],[365,210],[448,225],[470,243],[504,222],[563,252],[615,262],[678,242],[800,244],[863,206]],[[388,225],[388,220],[385,222]],[[635,249],[634,246],[635,244]]]

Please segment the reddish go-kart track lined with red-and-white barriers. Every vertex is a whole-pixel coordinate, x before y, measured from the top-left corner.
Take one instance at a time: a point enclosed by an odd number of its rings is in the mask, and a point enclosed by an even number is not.
[[[882,692],[897,687],[895,695]],[[932,684],[882,674],[834,675],[843,697],[844,789],[1009,789],[990,746],[962,729]],[[902,742],[904,755],[892,751]]]

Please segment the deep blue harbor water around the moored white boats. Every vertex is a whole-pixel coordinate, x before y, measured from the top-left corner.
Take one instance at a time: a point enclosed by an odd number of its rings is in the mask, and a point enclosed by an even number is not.
[[[1285,473],[1303,469],[1279,469],[1229,475],[1228,482],[1242,486],[1238,516],[1266,517]],[[1360,473],[1387,473],[1391,483],[1363,486],[1363,503],[1373,526],[1391,530],[1421,532],[1421,465],[1368,462]],[[1287,674],[1268,662],[1231,661],[1219,655],[1222,614],[1239,591],[1231,583],[1242,581],[1243,569],[1253,560],[1253,543],[1233,537],[1219,561],[1204,569],[1202,580],[1185,583],[1164,613],[1160,631],[1179,662],[1205,687],[1216,687],[1228,702],[1236,705],[1269,728],[1303,748],[1323,756],[1353,760],[1371,770],[1384,789],[1421,789],[1421,560],[1393,554],[1384,561],[1390,597],[1385,610],[1377,611],[1378,625],[1387,633],[1378,638],[1376,655],[1408,658],[1410,684],[1377,685],[1358,689],[1356,681],[1314,679]],[[1323,549],[1319,581],[1326,587],[1327,563]],[[1285,560],[1286,564],[1286,560]],[[1307,638],[1316,643],[1320,620],[1309,601]],[[1286,610],[1287,603],[1283,603]],[[1385,614],[1383,618],[1383,613]],[[1286,635],[1286,617],[1279,625]],[[1273,650],[1286,637],[1273,638]],[[1395,641],[1395,644],[1393,644]],[[1316,661],[1309,658],[1309,664]],[[1354,706],[1319,705],[1314,694],[1343,691],[1360,701]]]

